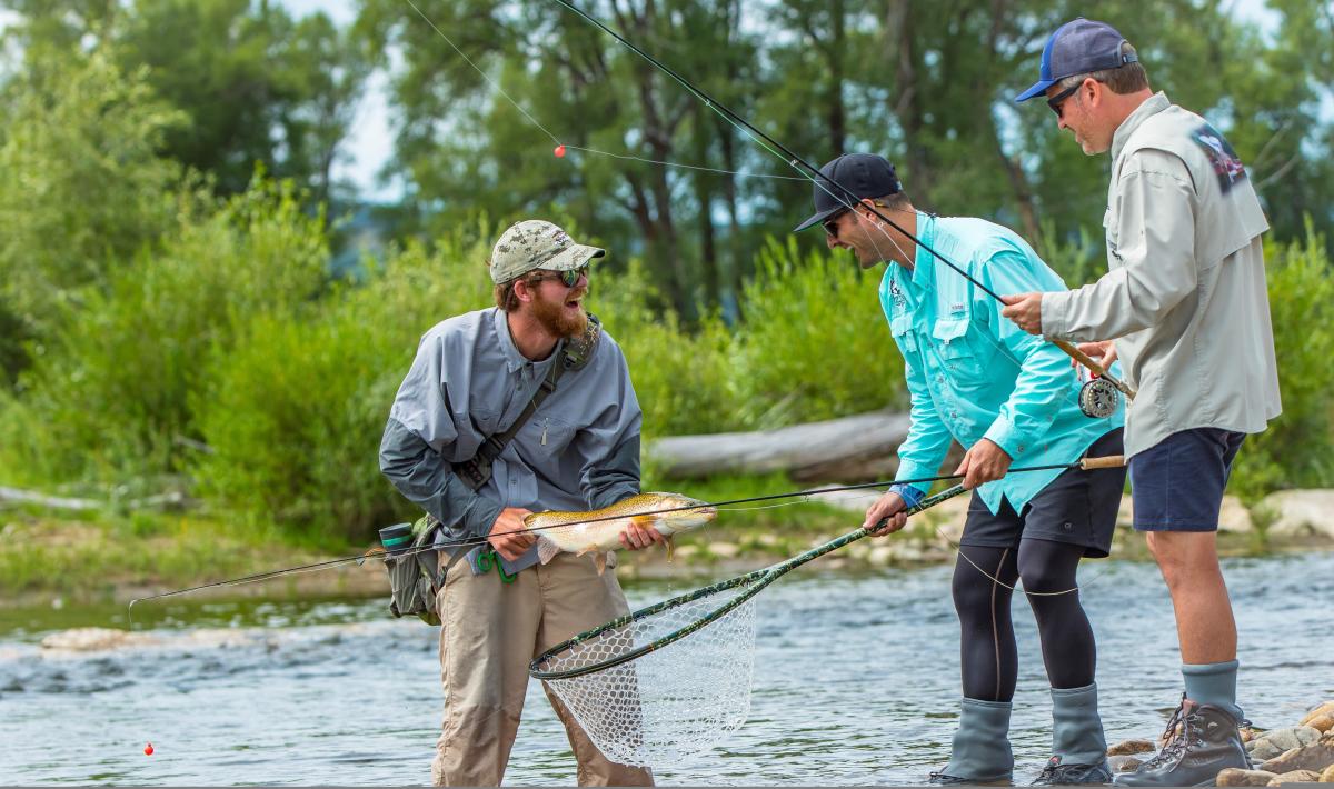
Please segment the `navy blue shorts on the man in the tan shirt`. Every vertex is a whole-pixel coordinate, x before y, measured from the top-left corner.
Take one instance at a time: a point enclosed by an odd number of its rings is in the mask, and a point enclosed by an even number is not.
[[[1141,532],[1215,532],[1223,489],[1245,433],[1194,428],[1130,458],[1130,494]]]

